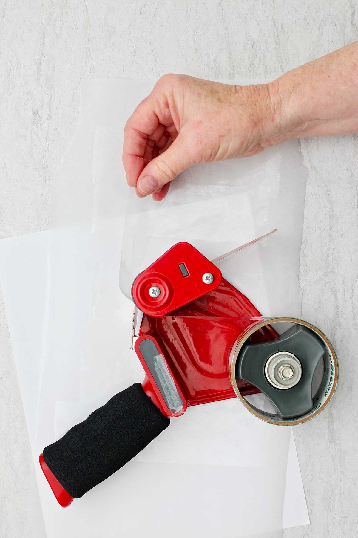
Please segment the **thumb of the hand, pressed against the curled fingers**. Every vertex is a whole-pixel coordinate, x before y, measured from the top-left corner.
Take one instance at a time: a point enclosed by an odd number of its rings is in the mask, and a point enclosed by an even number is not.
[[[167,150],[145,166],[138,178],[137,189],[144,195],[154,193],[193,164],[192,154],[179,134]]]

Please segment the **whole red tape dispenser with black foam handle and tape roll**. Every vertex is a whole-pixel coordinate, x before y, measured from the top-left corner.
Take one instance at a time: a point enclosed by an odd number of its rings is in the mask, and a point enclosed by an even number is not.
[[[293,425],[332,398],[338,363],[323,332],[296,318],[263,317],[189,243],[140,273],[132,296],[144,381],[43,449],[42,471],[62,506],[120,469],[188,406],[237,396],[261,420]],[[260,392],[269,411],[246,399]]]

